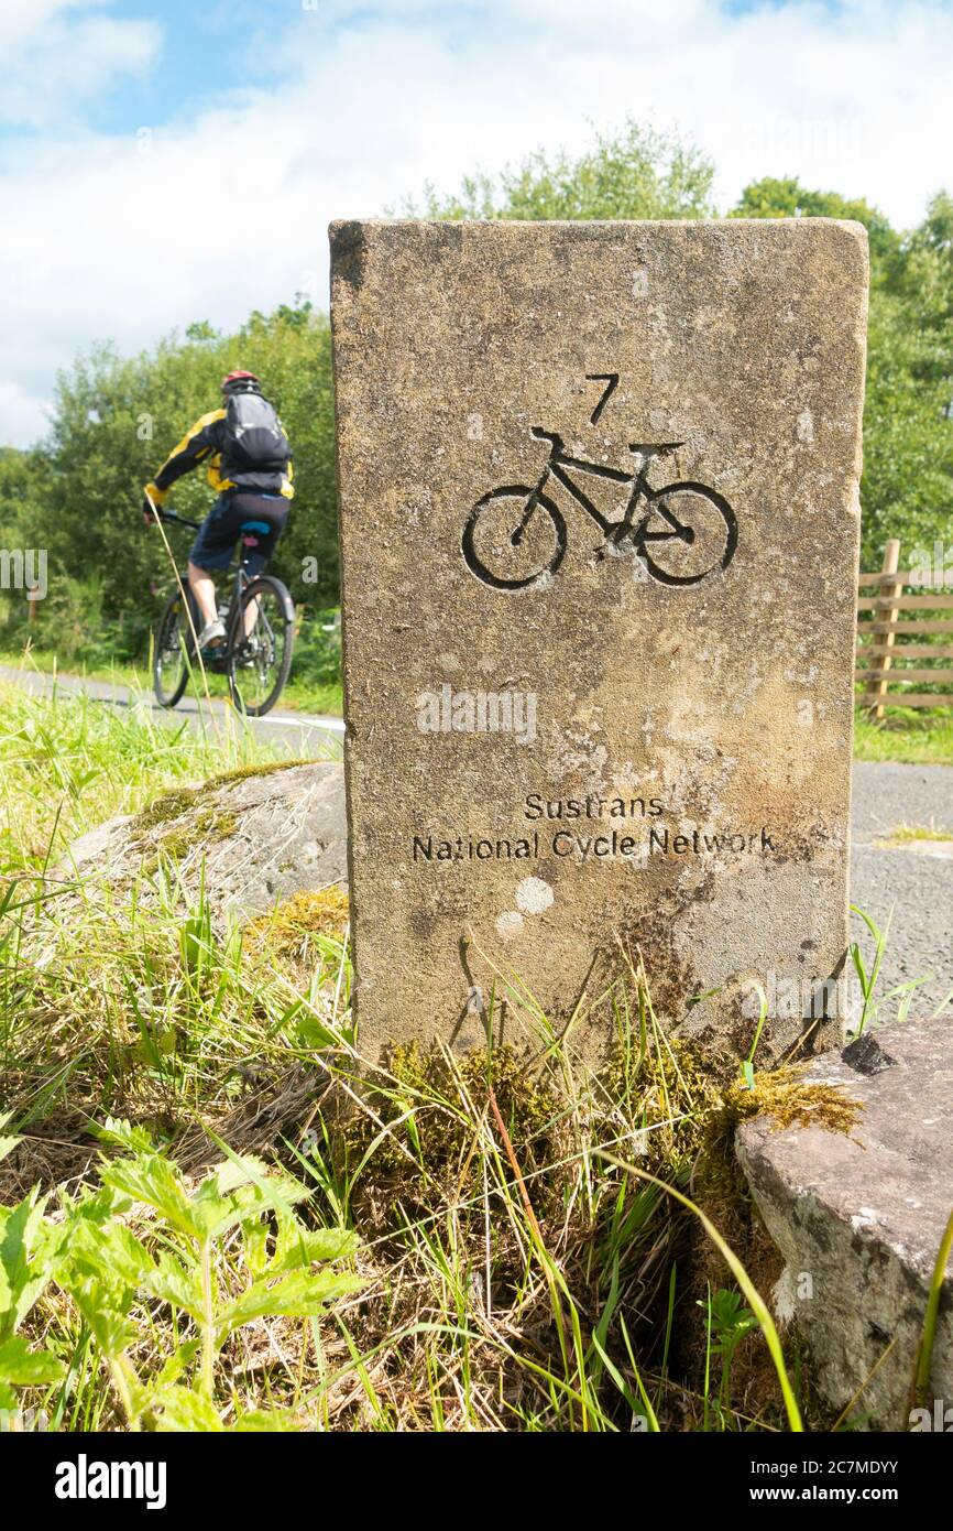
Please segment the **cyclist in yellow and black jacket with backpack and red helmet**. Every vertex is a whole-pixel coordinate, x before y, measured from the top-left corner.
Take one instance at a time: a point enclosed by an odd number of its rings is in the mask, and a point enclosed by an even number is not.
[[[213,571],[228,568],[239,536],[251,528],[245,533],[245,559],[251,577],[260,574],[285,531],[294,498],[291,447],[274,406],[262,393],[260,378],[254,372],[228,372],[222,378],[222,400],[220,409],[202,415],[173,447],[154,481],[145,485],[142,505],[142,519],[150,525],[156,519],[153,505],[162,505],[176,479],[200,462],[219,491],[188,554],[188,583],[203,623],[197,635],[200,649],[225,643]],[[255,612],[248,617],[254,625]]]

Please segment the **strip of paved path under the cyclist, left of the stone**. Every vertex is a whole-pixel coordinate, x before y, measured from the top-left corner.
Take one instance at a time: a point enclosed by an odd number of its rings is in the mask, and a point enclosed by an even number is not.
[[[0,664],[0,680],[24,686],[34,695],[49,695],[54,686],[52,675],[14,669],[8,664]],[[87,697],[96,697],[115,707],[144,707],[158,723],[179,726],[185,720],[193,729],[208,727],[210,703],[205,700],[199,703],[193,695],[185,695],[173,712],[165,712],[158,706],[151,692],[133,690],[130,686],[113,686],[110,681],[86,680],[76,675],[57,675],[55,684],[58,690],[86,692]],[[228,703],[213,697],[211,717],[234,720],[236,712]],[[275,709],[265,718],[246,718],[245,721],[259,738],[288,744],[295,755],[315,755],[321,759],[329,755],[341,755],[344,724],[340,718]]]

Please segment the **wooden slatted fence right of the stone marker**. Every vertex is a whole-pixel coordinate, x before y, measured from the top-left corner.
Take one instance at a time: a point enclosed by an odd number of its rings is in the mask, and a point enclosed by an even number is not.
[[[944,669],[944,660],[953,660],[953,580],[945,583],[942,568],[930,577],[925,570],[901,570],[899,542],[892,537],[883,568],[860,576],[858,704],[875,718],[884,707],[953,707],[953,669]],[[924,684],[941,690],[896,689]]]

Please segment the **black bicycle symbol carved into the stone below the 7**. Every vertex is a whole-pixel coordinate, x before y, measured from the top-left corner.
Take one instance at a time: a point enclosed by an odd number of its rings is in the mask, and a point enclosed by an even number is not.
[[[568,531],[560,507],[545,493],[551,478],[601,527],[604,542],[597,548],[597,557],[620,553],[630,544],[647,574],[673,586],[698,585],[717,570],[728,568],[737,548],[737,517],[724,495],[691,479],[662,488],[649,484],[655,459],[676,452],[684,441],[630,446],[629,450],[641,462],[633,473],[626,473],[571,456],[554,430],[534,426],[531,435],[549,442],[549,461],[535,487],[505,484],[490,490],[476,502],[463,527],[463,559],[483,585],[502,591],[526,589],[548,585],[557,573],[566,556]],[[571,470],[627,485],[630,493],[623,517],[613,521],[603,516],[574,482]],[[537,516],[537,511],[543,514]],[[529,545],[523,547],[534,517]]]

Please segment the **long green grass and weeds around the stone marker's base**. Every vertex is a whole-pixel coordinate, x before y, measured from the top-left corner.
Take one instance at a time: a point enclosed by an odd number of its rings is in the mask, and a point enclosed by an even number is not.
[[[104,816],[274,750],[83,697],[0,704],[0,1410],[64,1431],[831,1424],[765,1307],[780,1258],[733,1154],[742,1115],[826,1098],[716,1076],[632,966],[598,1076],[532,1007],[528,1050],[372,1064],[340,897],[242,929],[171,857],[127,888],[41,876]]]

